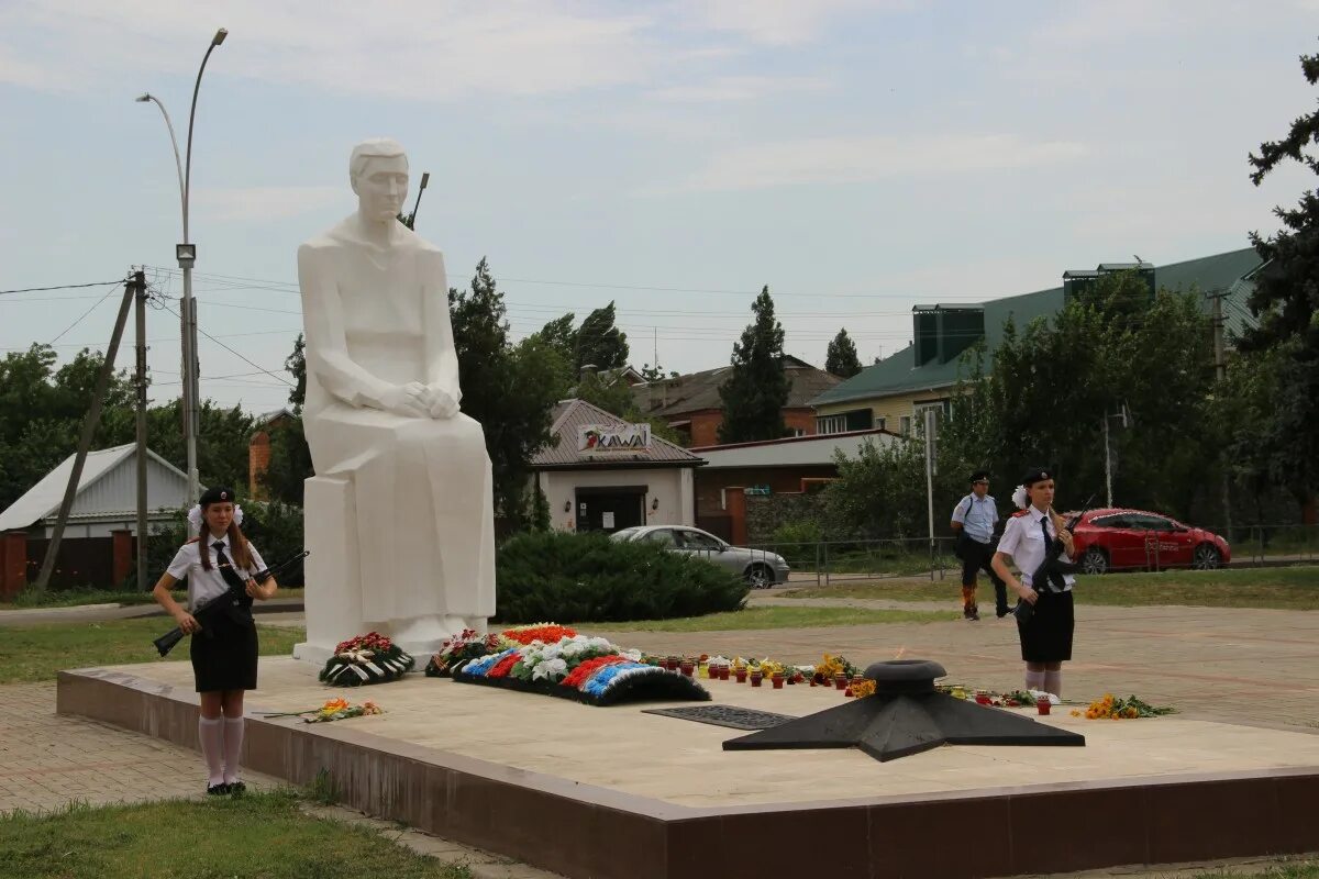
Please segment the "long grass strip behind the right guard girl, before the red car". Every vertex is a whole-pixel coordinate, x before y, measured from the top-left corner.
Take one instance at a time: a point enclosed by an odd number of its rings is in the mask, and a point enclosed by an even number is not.
[[[955,596],[956,580],[942,584],[856,584],[790,589],[785,598],[888,598],[930,601]],[[988,579],[980,579],[981,601],[993,601]],[[988,597],[988,598],[987,598]],[[1076,604],[1196,605],[1206,608],[1275,608],[1319,610],[1319,567],[1236,568],[1109,573],[1076,579]]]

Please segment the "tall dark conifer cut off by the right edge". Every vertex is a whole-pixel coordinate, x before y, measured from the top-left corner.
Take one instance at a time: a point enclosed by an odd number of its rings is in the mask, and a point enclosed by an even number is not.
[[[1319,83],[1319,54],[1302,55],[1306,80]],[[1319,111],[1299,116],[1282,140],[1265,141],[1249,157],[1250,182],[1260,186],[1279,166],[1298,162],[1319,174]],[[1282,229],[1269,237],[1250,233],[1268,260],[1250,295],[1258,326],[1241,339],[1246,352],[1277,349],[1278,407],[1269,430],[1257,438],[1268,449],[1269,470],[1298,501],[1319,490],[1319,191],[1301,194],[1293,208],[1277,207]]]

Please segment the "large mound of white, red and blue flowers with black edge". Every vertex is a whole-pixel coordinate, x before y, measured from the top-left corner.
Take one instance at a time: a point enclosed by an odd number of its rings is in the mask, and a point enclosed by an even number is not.
[[[694,677],[648,664],[640,651],[586,635],[563,637],[549,644],[514,643],[454,666],[450,673],[462,684],[545,693],[588,705],[636,698],[710,700]]]

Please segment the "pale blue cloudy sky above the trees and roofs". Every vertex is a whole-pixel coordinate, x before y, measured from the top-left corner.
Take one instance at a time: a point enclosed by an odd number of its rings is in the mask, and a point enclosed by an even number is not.
[[[179,294],[173,154],[133,98],[165,101],[182,148],[218,26],[193,146],[202,393],[253,411],[286,399],[259,368],[284,376],[294,252],[355,208],[365,137],[430,171],[418,232],[452,286],[489,257],[517,336],[613,299],[633,362],[658,347],[683,372],[727,362],[766,283],[790,353],[823,365],[847,327],[868,362],[913,304],[1237,249],[1314,184],[1256,188],[1245,159],[1315,105],[1315,0],[0,0],[0,290],[144,264]],[[0,349],[103,348],[107,290],[0,297]],[[177,319],[148,335],[166,399]]]

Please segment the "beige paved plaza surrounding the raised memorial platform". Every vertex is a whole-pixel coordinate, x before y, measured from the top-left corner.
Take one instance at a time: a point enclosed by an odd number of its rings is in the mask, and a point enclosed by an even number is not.
[[[799,600],[758,597],[756,604]],[[842,652],[857,664],[925,658],[950,680],[1008,689],[1020,685],[1016,630],[1009,619],[952,619],[948,602],[810,600],[905,610],[946,610],[948,622],[735,633],[612,633],[627,646],[669,652],[772,656],[793,663]],[[1078,608],[1076,660],[1064,697],[1136,693],[1173,705],[1178,720],[1216,720],[1319,735],[1319,613],[1206,608]],[[273,622],[270,619],[269,622]],[[290,617],[288,622],[295,622]],[[266,622],[266,621],[264,621]],[[150,666],[142,668],[149,673]],[[0,688],[0,810],[202,796],[195,751],[100,723],[54,714],[54,684]],[[570,708],[565,704],[562,708]],[[678,723],[673,721],[673,723]],[[257,789],[276,779],[249,776]],[[446,859],[467,859],[477,875],[543,876],[462,846],[412,834],[412,845]],[[1104,874],[1089,874],[1104,875]],[[1169,875],[1157,871],[1150,875]]]

